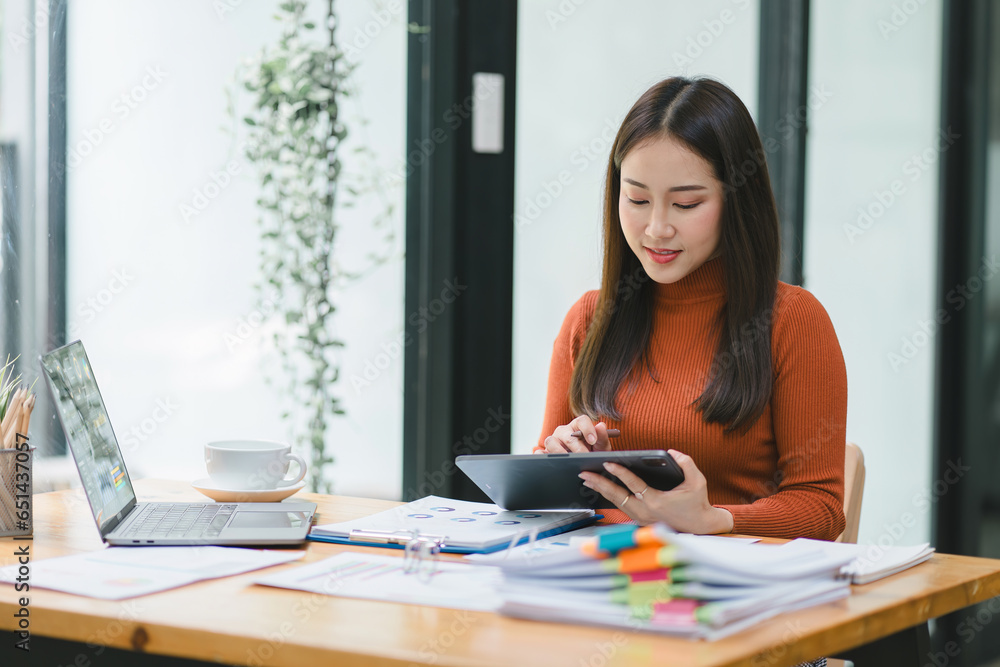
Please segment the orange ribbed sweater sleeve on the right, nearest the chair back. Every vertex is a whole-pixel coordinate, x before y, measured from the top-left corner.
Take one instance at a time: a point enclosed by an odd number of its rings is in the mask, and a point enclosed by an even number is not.
[[[771,337],[775,492],[747,505],[720,505],[733,532],[834,540],[844,530],[847,369],[833,323],[809,292],[777,304]]]

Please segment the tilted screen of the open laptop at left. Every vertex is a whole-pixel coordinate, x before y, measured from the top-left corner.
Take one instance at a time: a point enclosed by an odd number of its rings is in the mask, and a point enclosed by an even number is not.
[[[44,355],[42,368],[104,535],[118,524],[119,512],[135,505],[135,493],[83,343],[76,341]]]

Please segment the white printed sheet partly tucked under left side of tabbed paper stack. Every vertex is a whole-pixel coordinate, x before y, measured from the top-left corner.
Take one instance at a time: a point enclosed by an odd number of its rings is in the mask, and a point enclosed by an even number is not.
[[[450,561],[424,561],[407,571],[404,559],[362,553],[341,553],[258,579],[256,583],[407,604],[492,611],[499,607],[496,567]]]

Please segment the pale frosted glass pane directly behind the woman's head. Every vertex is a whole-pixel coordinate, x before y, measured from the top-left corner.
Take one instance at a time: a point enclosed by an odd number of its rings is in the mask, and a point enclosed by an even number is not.
[[[618,126],[639,95],[676,75],[720,79],[755,114],[759,4],[546,0],[518,10],[511,449],[525,453],[541,433],[552,342],[600,283],[601,189]]]

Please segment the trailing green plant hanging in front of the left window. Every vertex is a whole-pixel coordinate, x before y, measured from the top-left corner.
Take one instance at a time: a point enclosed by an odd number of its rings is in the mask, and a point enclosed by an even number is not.
[[[361,273],[334,258],[338,213],[377,189],[365,169],[344,172],[341,155],[348,130],[342,117],[354,65],[335,40],[337,18],[327,2],[328,40],[306,17],[304,0],[282,2],[276,18],[283,25],[277,44],[265,48],[239,75],[253,96],[243,118],[246,156],[257,168],[260,196],[261,271],[257,285],[268,311],[280,319],[273,342],[287,381],[289,407],[300,449],[310,452],[309,486],[331,492],[324,470],[333,462],[326,447],[332,420],[344,414],[337,392],[338,352],[344,343],[334,333],[334,297]],[[364,146],[351,160],[365,165],[372,154]],[[357,175],[360,173],[361,175]],[[371,222],[383,241],[394,238],[391,205],[382,204]],[[388,253],[370,253],[377,265]],[[267,296],[265,297],[265,294]]]

